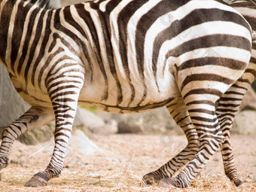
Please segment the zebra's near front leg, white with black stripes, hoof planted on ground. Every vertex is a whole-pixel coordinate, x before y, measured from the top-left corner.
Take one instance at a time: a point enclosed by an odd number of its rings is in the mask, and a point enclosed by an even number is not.
[[[72,75],[72,72],[69,74]],[[66,147],[72,135],[72,125],[78,107],[78,96],[82,87],[82,78],[76,72],[72,77],[63,77],[59,84],[49,84],[49,95],[55,113],[55,133],[53,155],[50,163],[42,172],[38,172],[25,184],[27,187],[47,185],[50,178],[58,177],[62,172]],[[59,81],[59,79],[58,79]],[[54,86],[53,86],[54,85]]]

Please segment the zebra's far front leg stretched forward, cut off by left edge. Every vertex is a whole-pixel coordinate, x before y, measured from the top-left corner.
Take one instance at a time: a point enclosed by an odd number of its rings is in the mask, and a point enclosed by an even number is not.
[[[54,115],[52,109],[32,107],[29,108],[29,110],[26,111],[26,113],[19,119],[15,120],[14,123],[7,126],[2,133],[2,143],[0,146],[0,169],[3,169],[8,165],[11,147],[18,136],[26,133],[28,130],[34,129],[35,127],[49,123],[53,119]]]

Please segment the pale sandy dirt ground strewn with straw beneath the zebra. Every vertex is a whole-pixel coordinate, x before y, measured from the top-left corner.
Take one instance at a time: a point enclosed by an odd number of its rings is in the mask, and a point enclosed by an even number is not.
[[[224,175],[218,152],[186,189],[141,183],[143,175],[157,169],[184,148],[184,136],[94,136],[93,142],[101,151],[84,155],[75,145],[79,139],[73,138],[62,175],[51,179],[47,187],[38,188],[23,185],[47,166],[53,144],[29,146],[15,142],[11,163],[1,171],[0,191],[256,191],[256,139],[253,136],[232,136],[236,165],[244,187],[236,188]]]

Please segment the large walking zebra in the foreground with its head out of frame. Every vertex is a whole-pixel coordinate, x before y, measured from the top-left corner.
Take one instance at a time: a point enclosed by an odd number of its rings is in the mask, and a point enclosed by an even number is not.
[[[96,0],[59,9],[41,2],[0,0],[0,61],[32,105],[3,131],[0,169],[18,136],[56,120],[50,163],[25,185],[59,176],[77,105],[114,113],[166,106],[188,144],[144,179],[189,186],[227,142],[229,111],[241,102],[229,96],[242,98],[255,79],[248,22],[221,0]]]

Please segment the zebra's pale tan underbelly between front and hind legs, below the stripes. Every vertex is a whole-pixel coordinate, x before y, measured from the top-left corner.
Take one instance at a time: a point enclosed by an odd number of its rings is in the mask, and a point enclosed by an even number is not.
[[[96,89],[96,87],[99,87],[96,84],[84,85],[80,93],[78,105],[94,106],[111,113],[139,113],[160,108],[172,99],[180,96],[175,78],[171,73],[166,76],[166,80],[162,79],[160,81],[159,89],[154,83],[154,78],[148,79],[146,92],[142,83],[136,84],[134,96],[130,92],[130,86],[128,84],[121,84],[121,90],[123,91],[122,102],[118,101],[118,94],[120,93],[118,93],[116,86],[110,86],[108,98],[102,99],[104,90],[100,88]],[[132,98],[133,101],[131,102]]]

